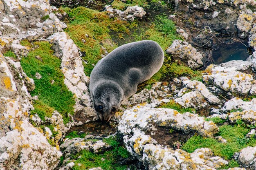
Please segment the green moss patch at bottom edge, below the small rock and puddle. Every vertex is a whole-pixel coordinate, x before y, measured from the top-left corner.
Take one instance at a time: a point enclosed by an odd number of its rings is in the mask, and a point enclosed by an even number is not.
[[[103,154],[94,154],[90,151],[83,150],[74,155],[73,158],[79,159],[74,161],[75,166],[73,170],[85,170],[94,167],[101,167],[104,170],[126,170],[129,165],[121,165],[118,163],[121,159],[130,157],[130,154],[115,138],[104,139],[106,143],[112,146],[111,150],[104,152]],[[81,166],[78,166],[78,163]]]

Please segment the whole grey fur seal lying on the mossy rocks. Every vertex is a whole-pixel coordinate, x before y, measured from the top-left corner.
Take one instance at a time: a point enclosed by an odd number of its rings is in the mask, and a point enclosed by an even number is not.
[[[121,102],[162,67],[164,51],[154,41],[119,46],[99,60],[90,75],[90,94],[101,121],[109,121]]]

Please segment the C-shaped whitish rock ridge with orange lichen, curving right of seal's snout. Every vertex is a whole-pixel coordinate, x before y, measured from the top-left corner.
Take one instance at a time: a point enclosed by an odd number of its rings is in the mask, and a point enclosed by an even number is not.
[[[124,135],[124,144],[130,154],[139,159],[146,168],[188,170],[193,167],[197,170],[215,170],[227,164],[224,159],[215,157],[208,148],[197,149],[189,154],[180,149],[172,150],[157,145],[155,139],[146,135],[148,130],[153,132],[157,129],[155,125],[169,126],[185,132],[193,129],[204,136],[212,136],[218,128],[213,122],[204,122],[203,118],[191,113],[181,115],[173,109],[150,107],[152,106],[135,106],[126,110],[118,127]]]

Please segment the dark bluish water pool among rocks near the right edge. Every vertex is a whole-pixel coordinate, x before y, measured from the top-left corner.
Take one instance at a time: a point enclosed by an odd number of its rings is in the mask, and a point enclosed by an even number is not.
[[[251,55],[251,51],[241,42],[222,43],[218,44],[218,49],[212,51],[212,63],[220,64],[231,60],[245,61],[249,55]]]

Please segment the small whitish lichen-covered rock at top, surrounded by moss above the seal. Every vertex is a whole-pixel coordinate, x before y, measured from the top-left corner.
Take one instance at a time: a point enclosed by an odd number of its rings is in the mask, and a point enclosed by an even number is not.
[[[120,20],[130,20],[133,21],[135,18],[140,18],[146,15],[146,11],[143,8],[135,5],[133,7],[127,7],[125,11],[119,9],[113,9],[111,5],[105,7],[105,10],[108,11],[109,17],[118,17]]]

